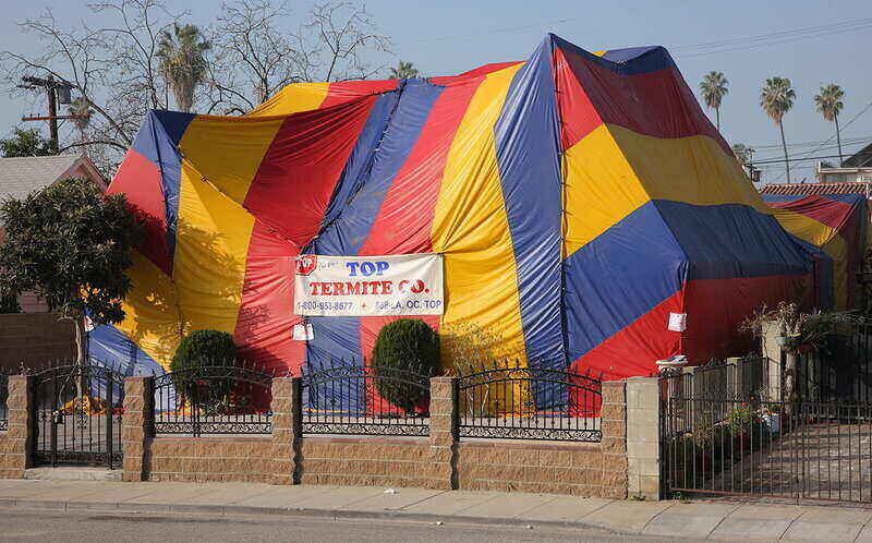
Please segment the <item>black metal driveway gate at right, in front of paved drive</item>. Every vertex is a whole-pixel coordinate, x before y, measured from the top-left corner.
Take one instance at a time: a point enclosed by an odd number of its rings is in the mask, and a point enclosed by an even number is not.
[[[775,376],[777,386],[766,378],[737,386],[760,363],[661,375],[665,490],[872,502],[872,403],[787,401],[783,374],[767,371],[765,359],[758,375]]]

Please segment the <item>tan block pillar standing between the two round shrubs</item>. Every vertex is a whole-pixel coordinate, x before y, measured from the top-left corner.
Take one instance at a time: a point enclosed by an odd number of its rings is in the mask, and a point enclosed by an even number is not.
[[[276,469],[271,484],[298,484],[302,433],[302,383],[300,377],[272,379],[272,458]]]

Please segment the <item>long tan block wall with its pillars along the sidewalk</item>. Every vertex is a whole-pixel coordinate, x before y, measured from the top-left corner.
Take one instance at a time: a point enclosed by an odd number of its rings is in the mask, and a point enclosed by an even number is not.
[[[602,442],[458,437],[457,387],[431,381],[428,437],[302,436],[299,377],[272,382],[272,434],[152,437],[148,377],[125,383],[124,481],[239,481],[519,491],[623,498],[658,497],[657,381],[603,383]],[[10,378],[10,431],[0,433],[0,478],[27,462],[26,377]],[[658,490],[658,488],[657,488]]]

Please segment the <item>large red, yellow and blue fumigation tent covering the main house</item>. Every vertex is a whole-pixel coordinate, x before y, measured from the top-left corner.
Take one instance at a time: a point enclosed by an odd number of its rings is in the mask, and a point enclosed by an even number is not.
[[[149,231],[128,317],[90,345],[131,369],[167,367],[199,328],[267,366],[366,359],[390,318],[312,317],[314,339],[292,339],[299,254],[441,253],[431,325],[606,377],[729,354],[747,314],[813,279],[662,47],[548,35],[456,76],[294,84],[244,117],[152,111],[110,192]]]

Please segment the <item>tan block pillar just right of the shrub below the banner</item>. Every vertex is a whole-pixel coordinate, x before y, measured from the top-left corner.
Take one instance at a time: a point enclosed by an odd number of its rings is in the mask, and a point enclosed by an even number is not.
[[[458,429],[457,377],[429,379],[429,446],[434,475],[445,482],[446,490],[457,485]]]

